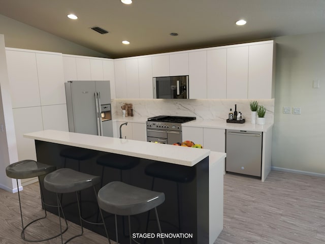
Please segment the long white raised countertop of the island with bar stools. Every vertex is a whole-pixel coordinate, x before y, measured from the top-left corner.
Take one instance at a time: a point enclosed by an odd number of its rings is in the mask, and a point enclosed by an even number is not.
[[[145,141],[45,130],[24,134],[25,138],[77,146],[108,153],[193,166],[210,155],[210,150]],[[224,153],[219,153],[224,158]]]

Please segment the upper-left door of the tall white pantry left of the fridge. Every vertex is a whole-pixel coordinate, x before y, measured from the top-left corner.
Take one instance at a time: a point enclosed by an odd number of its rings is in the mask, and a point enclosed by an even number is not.
[[[40,106],[35,53],[8,50],[6,57],[12,107]]]

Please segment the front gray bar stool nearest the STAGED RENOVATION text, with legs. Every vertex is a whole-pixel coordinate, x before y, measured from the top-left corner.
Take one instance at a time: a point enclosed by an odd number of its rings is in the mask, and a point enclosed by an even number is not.
[[[132,240],[134,240],[131,235],[130,216],[132,215],[141,214],[154,208],[158,229],[161,233],[156,207],[164,201],[165,194],[162,192],[154,192],[131,186],[121,181],[112,181],[106,186],[102,187],[98,192],[98,205],[100,208],[115,215],[116,243],[118,243],[117,215],[128,217],[130,244],[132,243]],[[163,238],[161,238],[161,243],[164,244]]]

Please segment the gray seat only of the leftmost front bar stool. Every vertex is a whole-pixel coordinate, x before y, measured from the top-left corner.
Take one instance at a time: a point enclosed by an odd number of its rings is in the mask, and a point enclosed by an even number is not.
[[[27,179],[48,174],[54,170],[56,170],[56,167],[53,165],[43,164],[34,160],[22,160],[7,166],[6,174],[14,179]]]

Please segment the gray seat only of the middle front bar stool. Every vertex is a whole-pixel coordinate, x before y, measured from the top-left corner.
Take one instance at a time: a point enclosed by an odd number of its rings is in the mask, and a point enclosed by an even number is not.
[[[100,176],[62,168],[45,176],[44,187],[51,192],[70,193],[92,187],[100,181]]]

